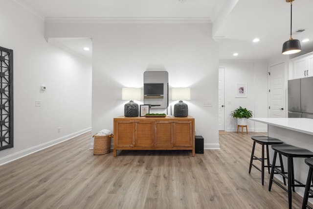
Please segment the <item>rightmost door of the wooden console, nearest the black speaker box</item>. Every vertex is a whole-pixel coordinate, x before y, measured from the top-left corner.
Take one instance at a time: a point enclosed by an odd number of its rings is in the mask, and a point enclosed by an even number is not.
[[[179,121],[174,123],[174,147],[192,146],[192,122]]]

